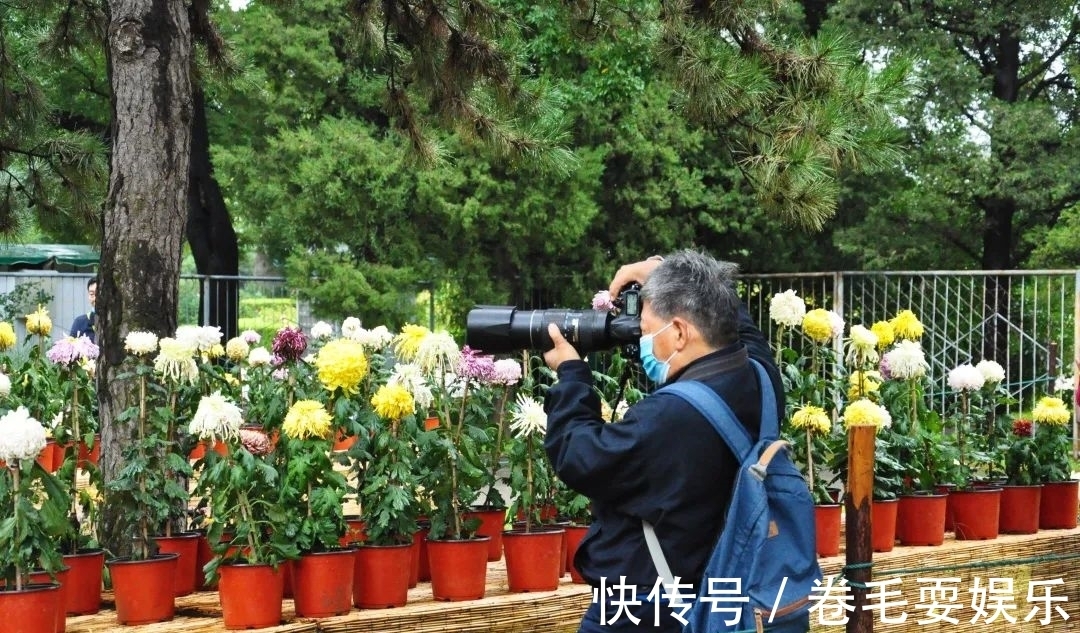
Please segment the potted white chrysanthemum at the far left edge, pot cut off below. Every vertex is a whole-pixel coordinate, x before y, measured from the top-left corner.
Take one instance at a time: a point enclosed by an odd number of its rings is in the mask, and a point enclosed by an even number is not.
[[[35,460],[45,446],[45,429],[25,407],[0,417],[0,611],[22,614],[26,631],[59,630],[64,622],[60,585],[31,583],[32,569],[54,575],[62,566],[53,539],[57,525],[66,525],[67,495],[56,480]],[[53,498],[55,496],[55,498]]]

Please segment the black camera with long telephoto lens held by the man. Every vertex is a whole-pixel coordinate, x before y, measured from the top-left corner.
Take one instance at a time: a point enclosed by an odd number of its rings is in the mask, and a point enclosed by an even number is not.
[[[548,351],[554,347],[548,324],[554,323],[579,353],[622,346],[626,358],[637,359],[642,338],[640,285],[624,286],[613,304],[615,311],[477,306],[465,320],[465,344],[489,354],[525,349]]]

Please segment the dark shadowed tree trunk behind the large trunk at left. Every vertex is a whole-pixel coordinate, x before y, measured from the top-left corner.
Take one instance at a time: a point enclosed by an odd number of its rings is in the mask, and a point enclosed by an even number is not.
[[[240,252],[232,218],[225,197],[214,178],[210,158],[210,132],[206,126],[206,98],[199,85],[192,93],[191,181],[188,191],[188,243],[199,274],[235,277],[240,274]],[[233,279],[212,280],[202,285],[199,319],[202,325],[217,325],[225,340],[237,334],[240,284]],[[207,306],[208,305],[208,306]],[[204,306],[208,310],[204,310]],[[203,314],[208,314],[202,323]]]

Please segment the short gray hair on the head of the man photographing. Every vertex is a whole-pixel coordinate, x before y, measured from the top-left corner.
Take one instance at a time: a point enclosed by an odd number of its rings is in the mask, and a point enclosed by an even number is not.
[[[723,347],[739,339],[739,305],[734,277],[739,266],[705,253],[678,251],[664,257],[642,286],[657,316],[686,319],[705,342]]]

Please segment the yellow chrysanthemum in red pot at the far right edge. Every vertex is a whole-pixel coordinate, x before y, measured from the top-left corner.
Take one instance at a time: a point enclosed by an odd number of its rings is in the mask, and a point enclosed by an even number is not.
[[[1069,457],[1072,413],[1065,401],[1047,395],[1031,409],[1035,422],[1035,476],[1042,483],[1039,528],[1071,529],[1077,526],[1077,485]]]

